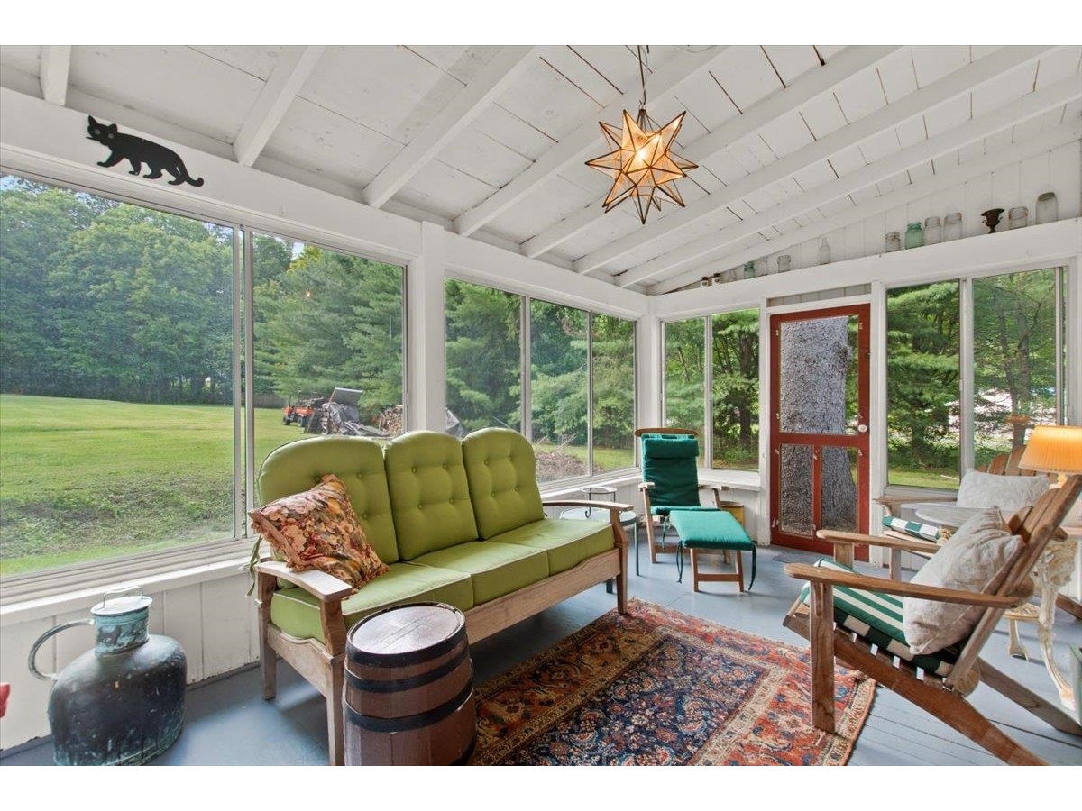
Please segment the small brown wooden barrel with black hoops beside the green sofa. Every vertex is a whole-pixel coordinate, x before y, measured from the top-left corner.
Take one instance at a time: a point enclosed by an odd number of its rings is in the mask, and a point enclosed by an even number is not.
[[[346,766],[464,763],[477,736],[465,616],[453,606],[396,606],[346,636]]]

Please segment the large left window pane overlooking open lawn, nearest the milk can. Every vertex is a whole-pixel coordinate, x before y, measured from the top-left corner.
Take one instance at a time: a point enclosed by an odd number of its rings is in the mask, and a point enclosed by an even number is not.
[[[0,573],[232,537],[233,229],[0,180]]]

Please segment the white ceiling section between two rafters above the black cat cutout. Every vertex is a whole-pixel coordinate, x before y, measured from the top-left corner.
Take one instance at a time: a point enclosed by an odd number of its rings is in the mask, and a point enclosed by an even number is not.
[[[71,51],[69,93],[79,90],[225,143],[233,143],[262,88],[253,76],[184,45]]]

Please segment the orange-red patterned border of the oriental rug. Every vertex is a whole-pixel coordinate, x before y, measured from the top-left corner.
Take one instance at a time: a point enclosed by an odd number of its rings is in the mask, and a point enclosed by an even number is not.
[[[477,688],[477,707],[480,719],[481,708],[486,702],[501,691],[506,691],[510,687],[520,681],[529,672],[536,672],[540,667],[558,662],[569,649],[578,648],[584,640],[597,633],[598,624],[616,623],[617,625],[626,623],[642,623],[648,626],[647,633],[633,642],[633,648],[622,652],[621,661],[610,672],[606,672],[604,683],[594,684],[594,689],[588,689],[584,684],[582,689],[575,690],[569,695],[563,696],[560,702],[543,709],[537,717],[522,723],[513,734],[505,740],[496,740],[486,743],[483,729],[479,727],[477,750],[472,758],[472,763],[499,763],[510,753],[530,740],[535,734],[543,732],[554,726],[560,718],[571,715],[583,703],[596,695],[599,690],[611,684],[624,673],[638,664],[639,660],[646,655],[650,648],[654,648],[663,640],[665,636],[681,640],[696,648],[716,649],[720,646],[733,648],[741,655],[754,659],[756,654],[762,655],[768,649],[767,655],[781,659],[786,668],[776,668],[771,673],[770,679],[780,682],[793,669],[807,667],[808,649],[797,647],[768,637],[757,636],[748,631],[730,628],[720,623],[702,620],[681,612],[677,609],[659,606],[637,598],[628,601],[628,614],[621,616],[616,609],[602,614],[570,636],[567,636],[555,644],[529,656],[524,662],[518,663],[510,670],[499,676],[492,677]],[[847,699],[845,712],[837,713],[839,729],[833,734],[817,732],[817,745],[822,748],[817,753],[816,765],[818,766],[844,766],[856,745],[856,739],[863,729],[868,716],[871,713],[872,702],[875,695],[875,682],[859,674],[846,668],[837,668],[840,681],[848,678],[854,681],[852,695]],[[803,688],[804,693],[808,693],[808,688]],[[806,706],[810,703],[809,695],[805,695]],[[735,730],[747,730],[752,727],[754,717],[758,710],[754,706],[742,706],[736,715],[730,717],[726,728]],[[810,722],[808,723],[810,726]],[[713,736],[707,744],[697,752],[690,763],[717,762],[725,757],[728,745],[736,745],[744,741],[740,737],[724,734],[724,730]]]

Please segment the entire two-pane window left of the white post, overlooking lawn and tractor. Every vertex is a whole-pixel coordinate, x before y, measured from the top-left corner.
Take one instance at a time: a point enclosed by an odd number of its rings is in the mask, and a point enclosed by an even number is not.
[[[255,235],[248,307],[229,226],[3,176],[0,229],[0,575],[246,535],[246,374],[256,469],[401,431],[400,267]]]

